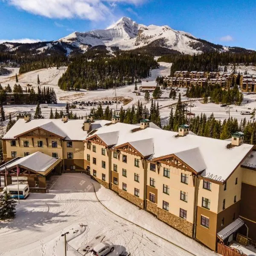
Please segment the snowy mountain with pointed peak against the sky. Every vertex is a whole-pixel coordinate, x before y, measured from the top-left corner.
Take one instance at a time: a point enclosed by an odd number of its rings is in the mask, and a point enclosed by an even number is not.
[[[239,47],[223,47],[208,41],[195,38],[193,35],[170,28],[169,26],[145,26],[128,17],[122,17],[106,29],[96,29],[89,32],[73,32],[57,41],[39,42],[34,44],[3,43],[0,51],[24,51],[31,53],[51,54],[52,51],[66,55],[76,52],[86,52],[88,49],[104,46],[108,50],[147,49],[152,53],[155,49],[160,55],[166,53],[202,53],[212,51],[249,51]]]

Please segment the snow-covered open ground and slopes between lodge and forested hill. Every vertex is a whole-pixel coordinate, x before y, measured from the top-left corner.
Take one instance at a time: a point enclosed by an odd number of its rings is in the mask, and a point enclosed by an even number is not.
[[[170,63],[160,62],[160,68],[156,70],[151,70],[151,77],[149,77],[148,81],[154,81],[157,76],[168,76],[170,73]],[[49,118],[49,112],[50,107],[52,107],[52,110],[55,111],[57,109],[60,111],[61,109],[64,110],[65,103],[66,102],[73,102],[73,101],[115,101],[115,90],[109,89],[109,90],[95,90],[95,91],[87,91],[87,90],[80,90],[78,92],[75,91],[63,91],[60,90],[58,87],[58,79],[61,77],[61,75],[65,72],[67,67],[60,67],[58,70],[56,67],[52,67],[49,69],[42,69],[42,70],[35,70],[28,73],[24,73],[18,76],[19,84],[23,87],[26,86],[26,84],[32,84],[35,87],[35,90],[37,90],[37,76],[39,76],[39,79],[41,81],[41,87],[43,86],[49,86],[53,87],[57,98],[58,98],[58,105],[49,105],[49,108],[42,109],[42,113],[45,116],[45,118]],[[228,68],[231,68],[228,67]],[[256,67],[245,67],[245,66],[238,66],[237,70],[244,70],[247,68],[247,70],[253,73],[254,68]],[[8,83],[11,87],[15,84],[15,73],[18,73],[17,68],[10,68],[12,70],[12,73],[8,76],[0,76],[0,83],[2,86],[6,86]],[[256,72],[256,71],[255,71]],[[144,79],[145,80],[145,79]],[[140,85],[138,84],[138,87]],[[139,88],[138,88],[139,89]],[[109,107],[112,108],[112,110],[115,110],[116,108],[119,109],[121,106],[123,108],[131,107],[132,104],[137,104],[138,100],[143,102],[143,105],[146,105],[147,108],[150,108],[151,102],[146,102],[144,99],[145,93],[141,93],[140,96],[136,96],[134,91],[134,85],[127,85],[124,87],[117,87],[116,88],[116,96],[117,100],[120,102],[120,104],[113,104]],[[177,102],[177,98],[175,100],[169,99],[169,93],[170,90],[163,90],[163,95],[161,99],[158,99],[157,102],[160,105],[160,115],[162,118],[162,124],[166,124],[169,119],[169,113],[170,113],[170,105]],[[182,101],[188,101],[189,99],[186,98],[185,93],[186,89],[180,89],[180,91],[176,91],[177,95],[178,93],[181,93]],[[150,93],[150,96],[152,98],[152,93]],[[94,106],[95,108],[97,106]],[[105,105],[102,106],[103,109],[105,109]],[[235,106],[231,105],[232,108],[230,108],[230,116],[236,117],[239,121],[246,117],[247,119],[250,119],[250,116],[244,116],[241,115],[242,110],[247,110],[248,108],[253,110],[253,108],[256,108],[256,95],[254,94],[246,94],[244,93],[244,101],[241,106]],[[77,105],[76,109],[73,109],[73,113],[76,113],[77,116],[86,116],[86,114],[90,113],[91,106],[83,106],[82,109],[79,109],[79,105]],[[32,115],[35,113],[35,105],[7,105],[4,106],[4,109],[6,111],[6,116],[9,115],[9,113],[12,113],[12,116],[15,116],[20,111],[27,111],[32,113]],[[188,106],[188,110],[190,111],[190,104]],[[215,118],[217,119],[226,119],[229,117],[229,113],[227,113],[227,109],[221,108],[220,105],[216,105],[214,103],[208,103],[208,104],[202,104],[200,101],[192,102],[192,108],[191,112],[195,113],[196,115],[200,115],[201,113],[206,113],[207,116],[210,116],[211,113],[214,113]],[[6,125],[4,123],[4,125]]]

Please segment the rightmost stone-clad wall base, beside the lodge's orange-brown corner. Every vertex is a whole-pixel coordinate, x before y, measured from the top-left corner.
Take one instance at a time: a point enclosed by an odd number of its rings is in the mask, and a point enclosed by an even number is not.
[[[179,230],[180,232],[184,233],[187,236],[193,236],[194,224],[190,223],[189,221],[177,217],[164,209],[158,208],[157,204],[154,204],[148,200],[146,209],[149,212],[156,215],[160,221],[165,222],[166,224],[170,225],[171,227],[174,227],[175,229]]]

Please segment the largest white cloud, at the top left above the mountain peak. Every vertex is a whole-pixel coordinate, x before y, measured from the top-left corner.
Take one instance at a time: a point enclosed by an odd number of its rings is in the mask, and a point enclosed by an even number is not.
[[[81,18],[86,20],[105,20],[113,16],[109,4],[138,5],[145,0],[5,0],[12,6],[48,18]],[[108,6],[106,5],[108,3]]]

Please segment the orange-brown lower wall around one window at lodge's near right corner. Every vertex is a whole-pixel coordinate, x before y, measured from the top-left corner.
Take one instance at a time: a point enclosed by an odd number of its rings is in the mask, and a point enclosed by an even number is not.
[[[209,228],[201,225],[201,215],[209,218]],[[216,250],[217,213],[197,207],[196,239],[212,250]]]

